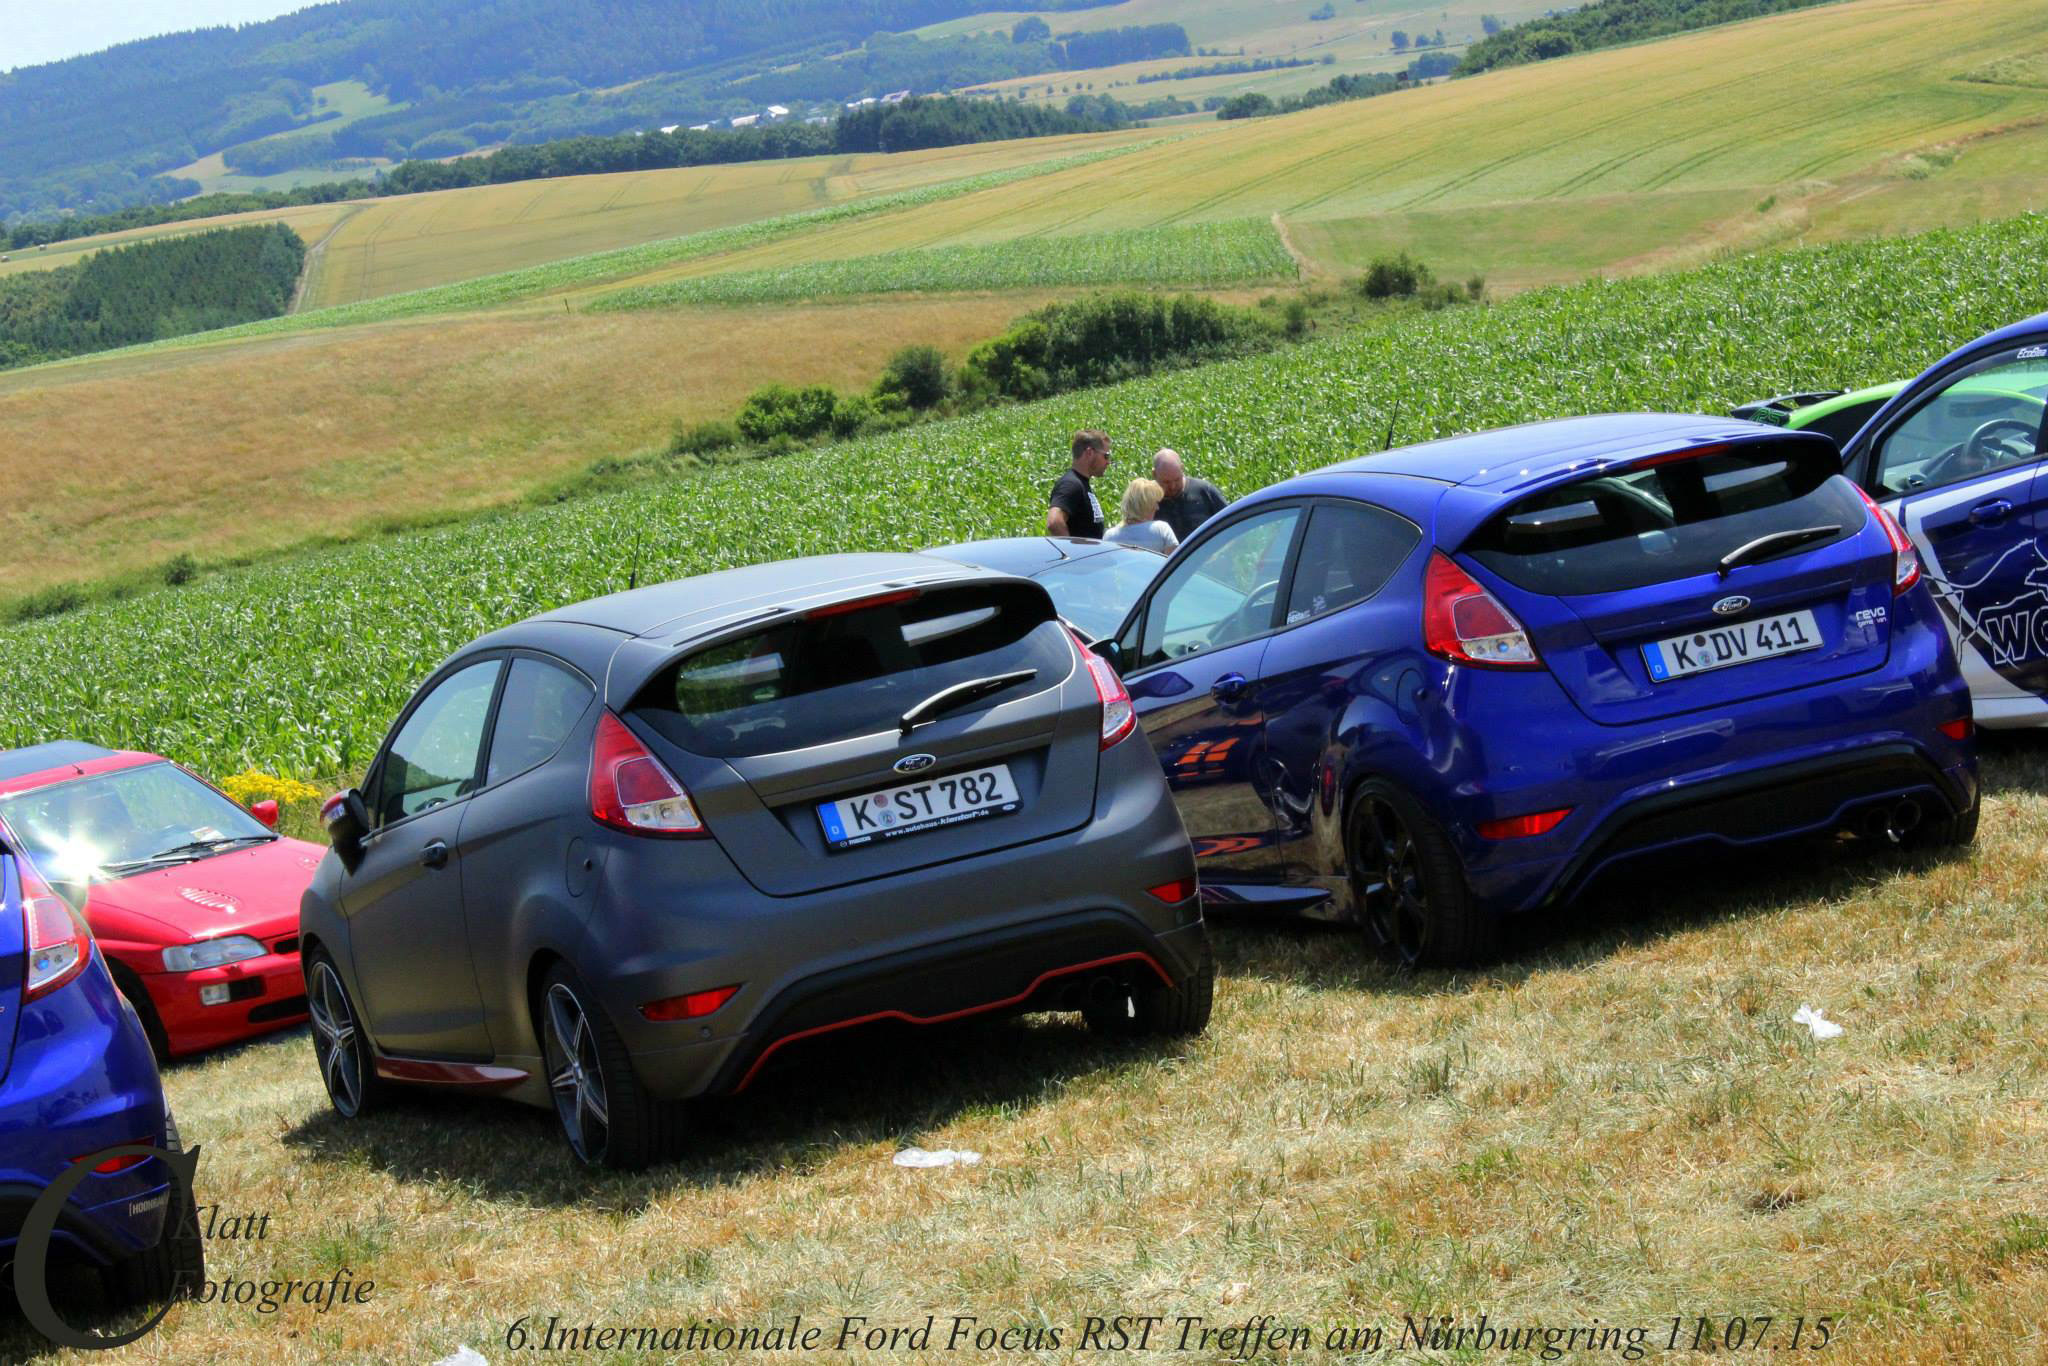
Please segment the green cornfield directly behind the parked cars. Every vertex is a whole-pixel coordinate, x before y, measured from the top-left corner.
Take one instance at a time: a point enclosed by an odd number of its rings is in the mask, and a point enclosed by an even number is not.
[[[0,745],[84,737],[334,778],[475,635],[639,582],[1040,524],[1079,426],[1180,449],[1229,494],[1401,444],[1612,410],[1724,412],[1921,371],[2048,309],[2048,219],[1751,256],[1495,307],[768,463],[307,553],[0,631]]]

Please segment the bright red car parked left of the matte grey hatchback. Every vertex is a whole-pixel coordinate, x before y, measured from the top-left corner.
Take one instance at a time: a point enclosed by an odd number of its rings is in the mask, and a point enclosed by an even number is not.
[[[154,754],[0,750],[0,838],[72,903],[158,1059],[305,1020],[299,895],[326,852]]]

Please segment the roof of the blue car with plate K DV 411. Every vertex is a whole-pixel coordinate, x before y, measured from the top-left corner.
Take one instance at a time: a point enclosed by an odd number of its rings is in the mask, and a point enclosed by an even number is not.
[[[1636,461],[1694,444],[1755,440],[1769,432],[1741,418],[1694,414],[1599,414],[1524,422],[1470,436],[1448,436],[1415,446],[1329,465],[1317,473],[1393,473],[1468,487],[1516,494],[1550,483],[1554,475],[1589,465]]]

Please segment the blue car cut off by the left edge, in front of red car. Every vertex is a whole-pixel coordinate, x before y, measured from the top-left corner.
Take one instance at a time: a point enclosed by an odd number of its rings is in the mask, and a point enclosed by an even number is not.
[[[84,920],[0,848],[0,1264],[18,1286],[31,1208],[78,1157],[178,1151],[150,1038]],[[170,1163],[111,1157],[57,1214],[51,1262],[100,1272],[111,1305],[162,1300],[203,1276],[197,1210]]]

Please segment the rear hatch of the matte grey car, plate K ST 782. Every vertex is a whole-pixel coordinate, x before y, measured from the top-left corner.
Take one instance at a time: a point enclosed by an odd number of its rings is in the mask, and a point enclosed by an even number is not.
[[[1094,815],[1100,702],[1026,580],[776,616],[690,647],[627,711],[770,895],[1044,840]]]

